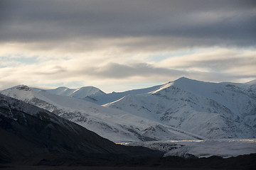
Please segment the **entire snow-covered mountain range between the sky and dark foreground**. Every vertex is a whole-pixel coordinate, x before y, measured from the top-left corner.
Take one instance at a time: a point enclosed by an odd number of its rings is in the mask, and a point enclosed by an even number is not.
[[[182,77],[112,94],[100,89],[92,93],[65,89],[16,86],[1,93],[45,108],[114,142],[256,137],[255,81],[216,84]]]

